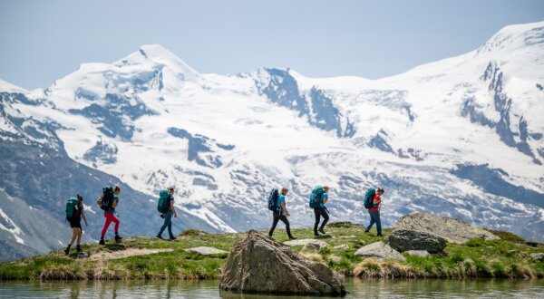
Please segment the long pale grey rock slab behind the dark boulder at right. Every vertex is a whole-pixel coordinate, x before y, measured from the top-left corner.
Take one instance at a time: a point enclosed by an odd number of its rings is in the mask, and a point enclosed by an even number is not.
[[[462,244],[474,237],[483,237],[486,240],[498,240],[487,230],[473,227],[465,222],[448,217],[439,217],[431,214],[410,213],[403,216],[393,226],[393,231],[400,229],[415,230],[434,236],[442,236],[448,242]]]

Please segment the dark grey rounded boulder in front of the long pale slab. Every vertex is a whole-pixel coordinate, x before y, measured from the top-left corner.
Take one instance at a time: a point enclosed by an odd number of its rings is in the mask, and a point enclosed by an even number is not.
[[[390,236],[387,236],[385,242],[400,252],[425,250],[431,254],[436,254],[446,247],[446,239],[441,236],[408,229],[393,231]]]

